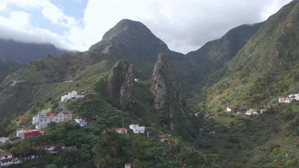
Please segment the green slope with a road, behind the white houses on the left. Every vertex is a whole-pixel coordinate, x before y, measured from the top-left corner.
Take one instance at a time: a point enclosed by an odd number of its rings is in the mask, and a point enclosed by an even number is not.
[[[0,86],[1,118],[27,111],[36,100],[43,104],[55,100],[56,107],[59,97],[66,92],[91,92],[101,72],[108,71],[113,63],[112,57],[93,52],[51,55],[29,63]],[[12,80],[21,82],[11,87]]]

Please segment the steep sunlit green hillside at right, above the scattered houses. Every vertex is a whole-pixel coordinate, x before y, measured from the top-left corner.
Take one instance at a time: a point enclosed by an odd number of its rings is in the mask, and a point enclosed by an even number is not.
[[[261,26],[206,89],[208,108],[267,106],[298,91],[298,13],[299,3],[292,1]]]

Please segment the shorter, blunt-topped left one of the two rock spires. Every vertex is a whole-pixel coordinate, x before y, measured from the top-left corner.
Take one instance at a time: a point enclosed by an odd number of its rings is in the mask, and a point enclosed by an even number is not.
[[[106,90],[109,99],[122,110],[137,113],[137,99],[134,95],[134,68],[126,60],[115,63],[108,78]]]

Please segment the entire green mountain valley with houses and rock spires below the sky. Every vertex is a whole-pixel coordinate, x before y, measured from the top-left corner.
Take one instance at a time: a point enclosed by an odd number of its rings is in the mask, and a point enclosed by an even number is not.
[[[88,51],[0,61],[0,153],[8,167],[298,167],[298,16],[294,0],[187,54],[123,19]]]

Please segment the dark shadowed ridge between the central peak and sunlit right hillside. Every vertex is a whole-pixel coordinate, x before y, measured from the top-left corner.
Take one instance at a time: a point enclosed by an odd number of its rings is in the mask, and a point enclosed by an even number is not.
[[[196,81],[201,82],[204,77],[223,68],[264,23],[240,25],[221,38],[209,41],[200,49],[186,54],[194,67],[193,76],[196,77]]]

